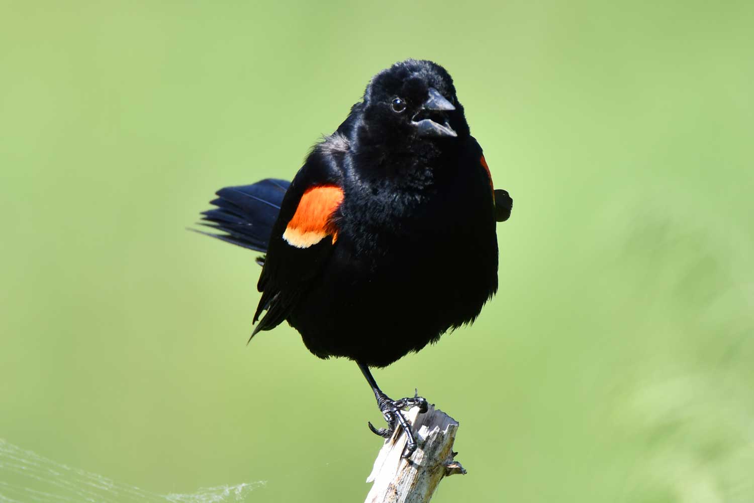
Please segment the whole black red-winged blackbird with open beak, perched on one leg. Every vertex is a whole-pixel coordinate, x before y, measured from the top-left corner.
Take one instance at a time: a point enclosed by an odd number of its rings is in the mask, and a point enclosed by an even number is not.
[[[335,133],[314,146],[293,182],[228,187],[203,213],[214,237],[265,256],[252,337],[283,321],[320,358],[356,361],[389,437],[400,413],[369,367],[385,367],[469,324],[498,289],[495,221],[512,199],[492,188],[452,78],[406,60],[372,78]]]

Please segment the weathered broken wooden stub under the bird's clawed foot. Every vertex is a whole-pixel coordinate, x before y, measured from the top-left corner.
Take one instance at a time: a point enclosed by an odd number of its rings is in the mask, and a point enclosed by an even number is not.
[[[372,473],[366,478],[374,482],[365,503],[426,503],[432,498],[440,480],[452,474],[465,474],[453,456],[453,441],[458,422],[430,405],[424,414],[418,407],[406,413],[412,425],[418,449],[409,459],[400,457],[406,446],[406,435],[400,428],[385,440]]]

